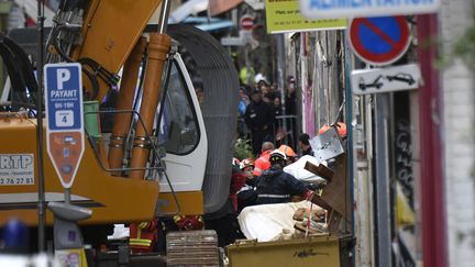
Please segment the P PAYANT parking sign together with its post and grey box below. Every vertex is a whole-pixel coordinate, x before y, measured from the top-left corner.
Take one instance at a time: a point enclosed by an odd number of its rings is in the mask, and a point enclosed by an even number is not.
[[[48,203],[54,214],[55,254],[64,266],[82,266],[86,257],[77,222],[90,218],[92,211],[70,203],[70,187],[85,149],[81,65],[46,64],[43,73],[47,153],[65,189],[65,203]]]

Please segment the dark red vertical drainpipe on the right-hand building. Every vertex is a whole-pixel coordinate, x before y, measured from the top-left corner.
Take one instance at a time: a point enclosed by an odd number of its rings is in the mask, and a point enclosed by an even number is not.
[[[418,57],[423,77],[419,88],[421,198],[422,198],[422,258],[423,266],[448,266],[444,178],[441,144],[442,99],[438,58],[437,14],[418,15]]]

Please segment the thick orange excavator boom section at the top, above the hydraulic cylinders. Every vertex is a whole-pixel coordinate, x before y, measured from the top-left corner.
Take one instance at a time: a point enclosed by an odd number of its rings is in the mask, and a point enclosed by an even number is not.
[[[162,0],[90,1],[81,31],[84,41],[73,52],[73,58],[93,58],[103,68],[117,74],[161,2]],[[84,81],[88,82],[88,79],[84,78]],[[98,99],[102,99],[109,86],[102,79],[98,81]]]

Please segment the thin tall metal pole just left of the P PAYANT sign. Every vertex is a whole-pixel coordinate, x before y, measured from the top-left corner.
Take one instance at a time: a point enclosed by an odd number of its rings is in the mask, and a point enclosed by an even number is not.
[[[38,33],[38,49],[36,58],[36,73],[38,87],[36,92],[36,158],[37,158],[37,176],[38,176],[38,252],[45,252],[45,188],[44,188],[44,169],[43,169],[43,22],[44,22],[44,5],[37,0],[37,21],[36,31]]]

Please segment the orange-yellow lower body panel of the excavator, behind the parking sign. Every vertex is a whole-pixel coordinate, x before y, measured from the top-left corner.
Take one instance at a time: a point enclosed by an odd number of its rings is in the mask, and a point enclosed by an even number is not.
[[[33,155],[35,166],[33,183],[0,185],[0,225],[12,216],[27,225],[37,224],[38,156],[35,131],[36,120],[24,119],[16,113],[0,115],[0,156]],[[46,147],[43,160],[46,200],[63,201],[64,190],[46,154]],[[71,203],[92,210],[92,216],[81,223],[147,221],[155,214],[157,198],[156,181],[114,177],[102,170],[91,146],[86,142],[85,154],[71,187]],[[52,219],[51,212],[47,212],[48,224],[53,223]]]

